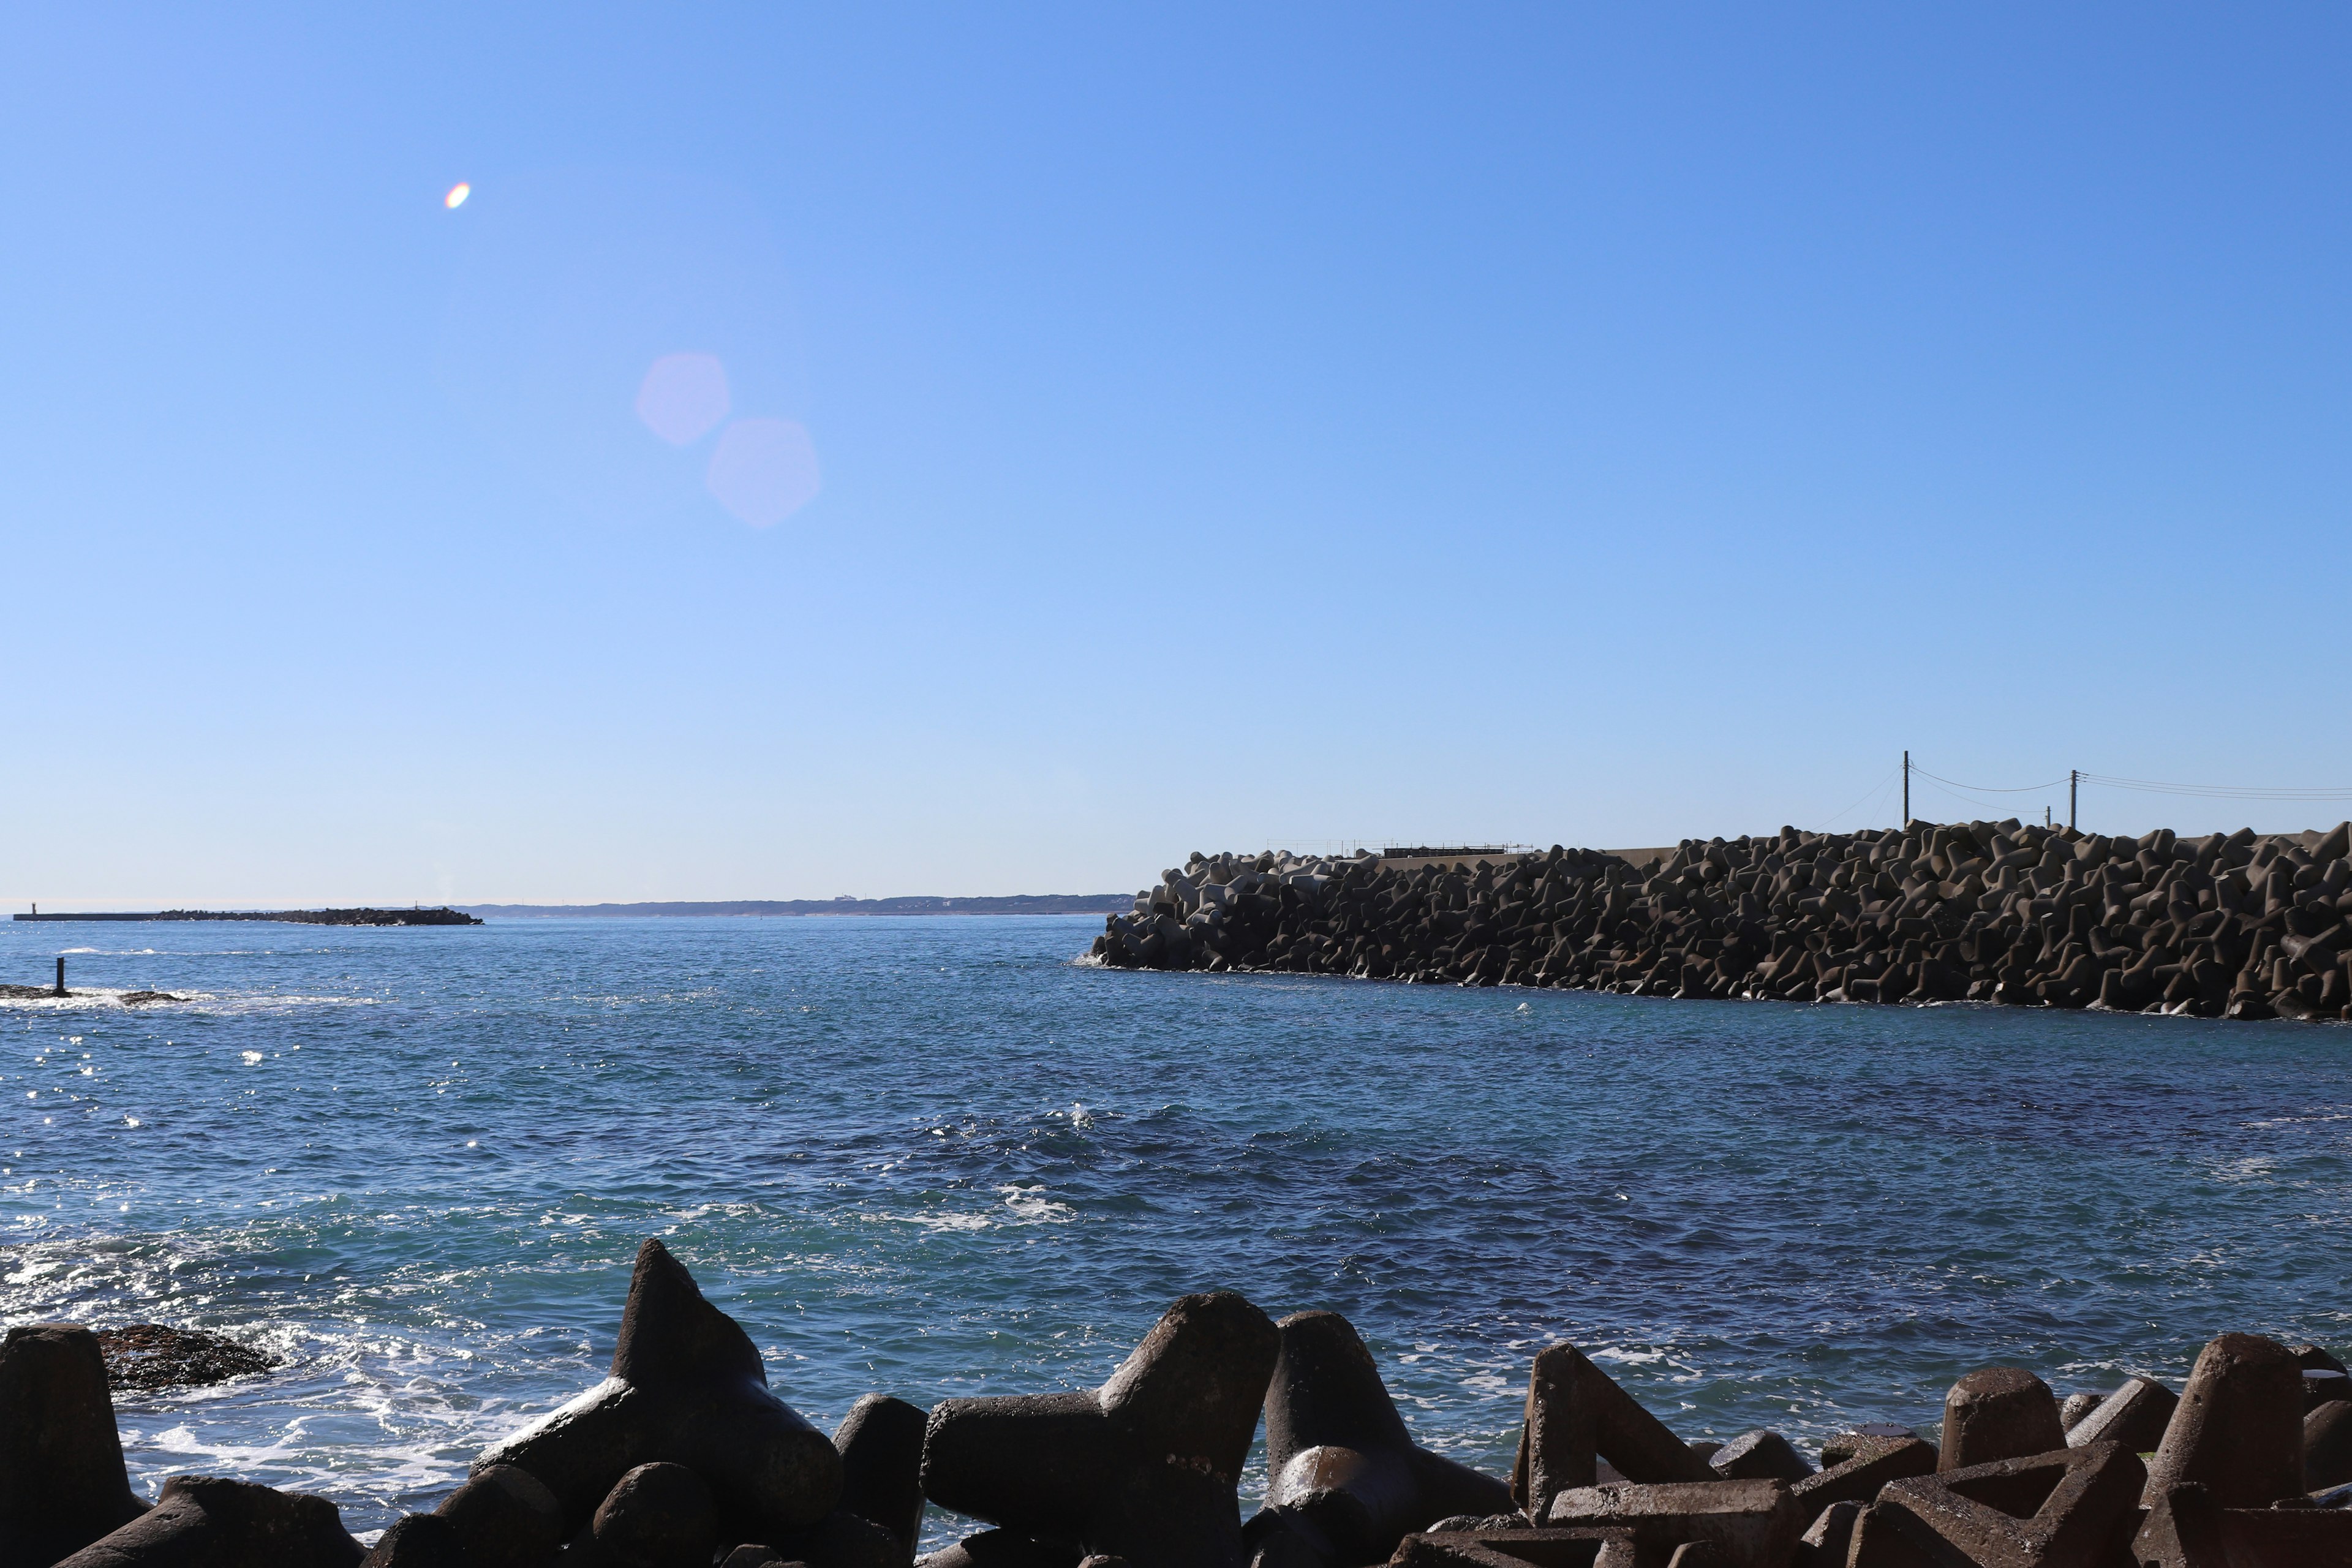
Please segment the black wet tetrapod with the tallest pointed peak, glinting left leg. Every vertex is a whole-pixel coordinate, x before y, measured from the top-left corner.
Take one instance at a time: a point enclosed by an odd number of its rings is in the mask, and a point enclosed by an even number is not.
[[[612,1375],[473,1469],[529,1472],[574,1533],[626,1472],[654,1462],[699,1474],[736,1540],[814,1523],[842,1495],[842,1455],[769,1392],[750,1335],[703,1300],[661,1241],[637,1248]]]

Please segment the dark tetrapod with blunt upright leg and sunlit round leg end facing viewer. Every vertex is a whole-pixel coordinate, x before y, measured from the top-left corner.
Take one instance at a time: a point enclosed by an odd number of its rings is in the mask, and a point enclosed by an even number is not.
[[[1437,1519],[1512,1509],[1503,1481],[1414,1443],[1348,1319],[1294,1312],[1279,1331],[1265,1389],[1265,1509],[1242,1526],[1254,1563],[1376,1563]]]

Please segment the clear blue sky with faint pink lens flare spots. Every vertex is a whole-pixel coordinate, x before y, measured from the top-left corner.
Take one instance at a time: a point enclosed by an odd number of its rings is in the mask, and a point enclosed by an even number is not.
[[[0,68],[7,907],[1134,889],[1884,825],[1903,748],[2352,785],[2336,5],[14,7]]]

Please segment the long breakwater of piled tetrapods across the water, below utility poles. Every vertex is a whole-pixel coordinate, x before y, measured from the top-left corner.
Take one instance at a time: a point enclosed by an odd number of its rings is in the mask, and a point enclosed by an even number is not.
[[[2006,823],[1486,858],[1192,856],[1105,922],[1115,969],[1637,997],[2345,1018],[2352,823],[2197,839]]]

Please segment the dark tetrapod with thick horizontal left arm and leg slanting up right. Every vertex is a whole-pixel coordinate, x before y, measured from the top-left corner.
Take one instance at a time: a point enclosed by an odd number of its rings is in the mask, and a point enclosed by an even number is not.
[[[1134,1568],[1240,1568],[1235,1486],[1279,1354],[1240,1295],[1185,1295],[1094,1392],[943,1401],[922,1490]]]

